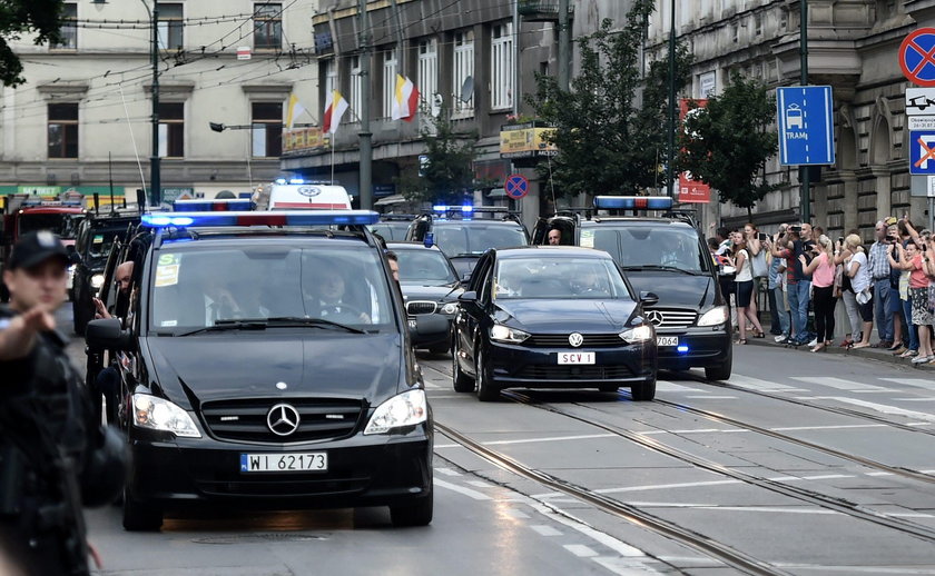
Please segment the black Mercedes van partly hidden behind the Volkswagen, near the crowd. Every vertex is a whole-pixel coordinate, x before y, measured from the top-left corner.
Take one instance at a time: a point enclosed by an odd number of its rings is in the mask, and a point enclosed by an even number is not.
[[[668,197],[598,196],[594,208],[540,218],[533,244],[547,244],[549,230],[558,229],[562,244],[609,252],[638,294],[659,297],[643,307],[656,326],[659,368],[701,367],[708,379],[729,378],[730,311],[692,218],[672,212]],[[660,216],[620,216],[624,210],[658,210]]]

